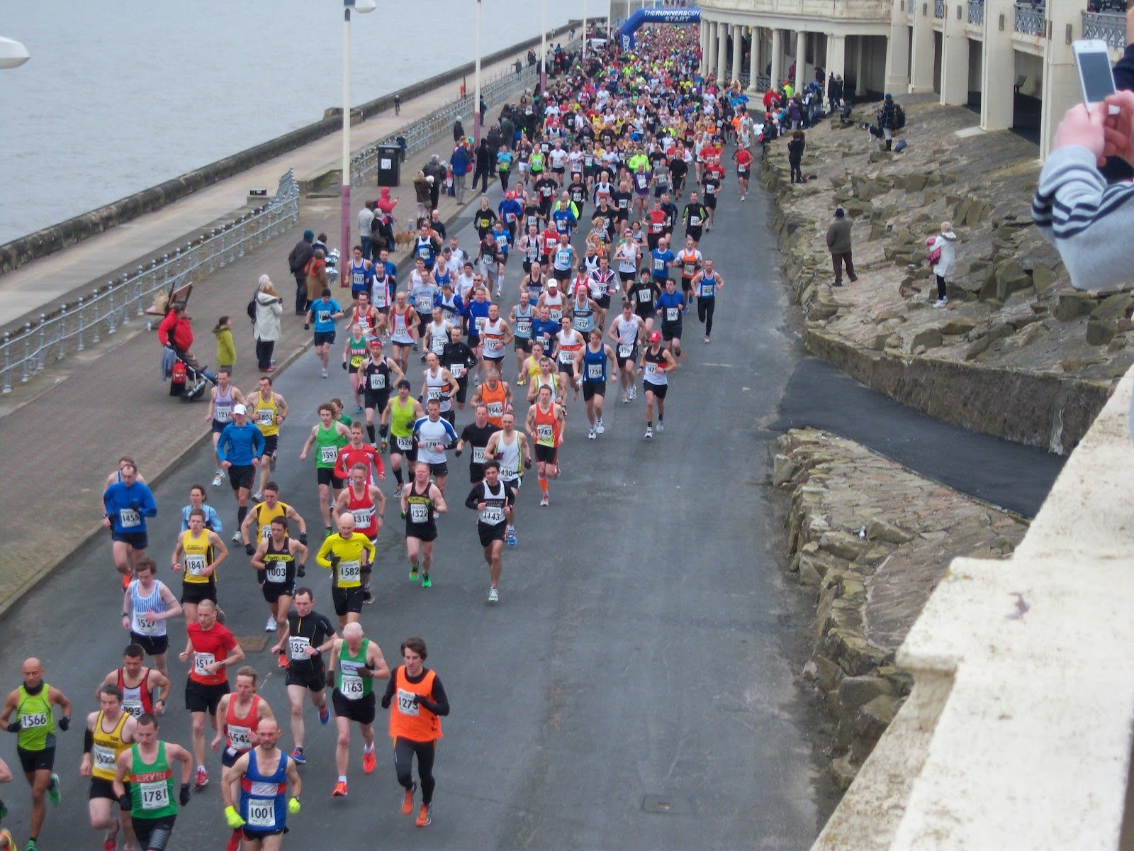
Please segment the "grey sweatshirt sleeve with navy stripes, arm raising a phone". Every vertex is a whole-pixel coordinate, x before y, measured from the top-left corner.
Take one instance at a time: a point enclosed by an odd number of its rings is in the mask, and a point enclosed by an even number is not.
[[[1134,184],[1108,186],[1094,155],[1061,148],[1040,172],[1032,219],[1056,246],[1076,289],[1109,289],[1134,280]]]

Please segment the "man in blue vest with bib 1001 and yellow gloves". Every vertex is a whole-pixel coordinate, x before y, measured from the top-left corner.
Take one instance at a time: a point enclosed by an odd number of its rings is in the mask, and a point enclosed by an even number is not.
[[[221,785],[225,820],[232,828],[237,843],[244,840],[245,851],[279,851],[284,846],[288,815],[299,812],[303,781],[295,760],[276,747],[279,738],[279,724],[273,718],[263,718],[256,725],[256,747],[243,753],[225,772]],[[290,799],[287,798],[289,785]],[[230,790],[238,790],[238,798]],[[239,809],[234,806],[235,800],[239,801]]]

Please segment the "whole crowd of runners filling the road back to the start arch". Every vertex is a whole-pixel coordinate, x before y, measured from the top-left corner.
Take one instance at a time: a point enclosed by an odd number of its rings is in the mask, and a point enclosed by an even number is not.
[[[313,380],[327,379],[329,397],[316,411],[289,407],[271,374],[242,390],[218,371],[205,415],[211,483],[231,489],[234,512],[210,504],[222,500],[205,485],[184,507],[159,512],[134,461],[120,460],[102,500],[122,656],[91,680],[93,699],[65,696],[28,658],[0,710],[32,790],[26,851],[37,850],[46,803],[60,803],[76,772],[88,778],[90,825],[105,851],[170,848],[179,809],[211,782],[219,792],[197,817],[215,820],[230,851],[279,849],[301,800],[348,797],[353,733],[362,770],[375,770],[379,705],[400,811],[416,812],[418,827],[431,823],[449,699],[422,638],[400,641],[388,662],[366,635],[374,566],[401,551],[409,580],[431,588],[439,521],[463,506],[475,513],[497,604],[503,554],[521,540],[519,504],[535,505],[521,497],[531,485],[521,486],[534,473],[539,507],[551,505],[566,419],[585,416],[587,440],[599,440],[610,388],[640,406],[643,439],[665,431],[675,371],[692,356],[689,337],[711,342],[725,286],[710,251],[723,247],[711,244],[717,200],[731,179],[744,201],[753,163],[747,99],[738,84],[699,76],[696,44],[694,28],[648,30],[637,53],[610,48],[545,96],[513,104],[515,134],[497,152],[506,193],[496,208],[480,197],[475,248],[423,220],[401,280],[387,258],[356,248],[341,264],[349,289],[307,305]],[[285,429],[294,436],[286,452]],[[315,469],[318,517],[301,516],[274,480],[278,465],[296,464]],[[179,524],[171,553],[149,547],[154,523]],[[268,658],[284,674],[274,707],[221,608],[251,588],[218,581],[222,564],[227,573],[242,559],[256,571]],[[170,702],[175,686],[184,713]],[[84,738],[83,756],[65,767],[57,739],[74,711],[69,735]],[[320,724],[335,719],[332,789],[304,789],[308,711]],[[11,778],[0,760],[0,783]],[[6,812],[0,802],[0,819]],[[12,837],[0,832],[6,846],[14,851]]]

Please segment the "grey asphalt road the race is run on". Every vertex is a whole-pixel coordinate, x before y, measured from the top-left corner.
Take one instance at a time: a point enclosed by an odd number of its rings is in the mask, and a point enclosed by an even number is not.
[[[310,711],[304,806],[290,819],[287,846],[811,844],[829,804],[809,710],[793,682],[810,604],[781,580],[782,530],[764,487],[768,429],[798,353],[781,329],[784,288],[775,275],[758,272],[775,267],[767,202],[756,191],[742,205],[735,186],[726,189],[719,225],[702,250],[728,285],[711,345],[701,343],[695,318],[686,318],[688,357],[671,379],[665,433],[643,441],[644,403],[621,405],[615,391],[606,435],[587,441],[582,401],[568,405],[562,477],[552,482],[550,508],[536,507],[534,475],[523,489],[519,546],[505,551],[499,605],[486,603],[474,514],[463,507],[467,455],[450,458],[451,512],[440,523],[432,589],[408,582],[400,524],[388,513],[393,520],[380,536],[374,574],[378,603],[365,607],[362,622],[388,659],[407,635],[424,637],[428,664],[449,693],[452,714],[443,721],[433,824],[417,829],[398,811],[384,714],[376,722],[378,770],[362,774],[355,733],[350,797],[332,800],[335,728],[321,727]],[[498,195],[497,187],[493,205]],[[466,247],[475,245],[471,229],[460,236]],[[518,275],[518,262],[510,264],[513,292]],[[506,376],[514,379],[513,370],[514,361],[506,360]],[[348,397],[347,379],[335,371],[321,380],[314,355],[304,355],[279,376],[277,389],[291,415],[276,479],[284,498],[318,529],[313,462],[297,456],[316,420],[315,405]],[[202,414],[201,406],[186,413]],[[466,412],[458,427],[468,419]],[[189,453],[158,488],[151,551],[162,568],[189,486],[212,477],[210,455]],[[227,483],[209,490],[227,539],[235,522],[230,491]],[[221,566],[220,601],[237,634],[259,638],[265,607],[247,562],[237,551]],[[312,561],[316,609],[332,614],[327,579],[319,574]],[[169,579],[164,568],[161,579]],[[19,663],[36,655],[48,681],[76,701],[76,715],[93,708],[94,685],[118,664],[126,643],[116,587],[109,542],[100,539],[0,623],[0,685],[17,685]],[[175,648],[181,635],[176,624]],[[286,718],[274,658],[253,652],[248,660],[264,676],[261,693]],[[176,659],[171,667],[175,700],[161,734],[187,745],[184,667]],[[286,722],[284,727],[281,744],[289,747]],[[60,742],[65,798],[49,811],[44,851],[93,846],[101,839],[85,819],[86,783],[77,772],[82,734],[73,728]],[[15,764],[11,745],[0,752]],[[220,848],[227,839],[219,759],[209,762],[213,784],[179,818],[174,849]],[[6,824],[23,843],[23,780],[0,795],[11,811]]]

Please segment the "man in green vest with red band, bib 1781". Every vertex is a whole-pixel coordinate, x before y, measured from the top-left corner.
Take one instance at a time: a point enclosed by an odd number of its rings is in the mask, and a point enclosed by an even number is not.
[[[177,804],[189,802],[193,757],[179,744],[158,739],[158,722],[149,713],[138,716],[136,743],[118,755],[115,794],[129,809],[139,851],[166,851],[174,833]],[[181,764],[181,791],[174,797],[174,762]],[[126,783],[130,791],[126,791]]]

